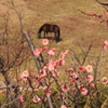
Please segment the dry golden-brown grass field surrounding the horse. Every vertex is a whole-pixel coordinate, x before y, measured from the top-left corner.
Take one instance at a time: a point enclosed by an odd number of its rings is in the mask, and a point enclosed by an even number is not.
[[[92,51],[89,54],[86,64],[94,65],[97,55],[105,40],[108,40],[108,26],[100,23],[97,17],[86,16],[79,10],[89,14],[104,14],[104,6],[95,0],[13,0],[16,9],[23,13],[23,24],[26,24],[24,30],[28,30],[32,25],[31,38],[36,46],[41,44],[41,39],[37,39],[37,31],[44,23],[56,24],[60,27],[62,41],[56,43],[51,41],[52,48],[57,48],[55,58],[65,50],[73,46],[78,56],[81,56],[81,49],[85,51],[92,44]],[[18,27],[18,19],[15,11],[12,9],[11,0],[0,1],[0,13],[10,10],[10,17],[13,24]],[[2,24],[2,18],[0,18]],[[2,26],[0,25],[0,30]],[[53,37],[53,33],[50,33]],[[82,56],[81,56],[82,58]],[[66,66],[71,66],[71,55],[66,58]],[[104,65],[105,64],[105,65]],[[100,64],[100,75],[108,76],[108,51],[104,53],[103,64]]]

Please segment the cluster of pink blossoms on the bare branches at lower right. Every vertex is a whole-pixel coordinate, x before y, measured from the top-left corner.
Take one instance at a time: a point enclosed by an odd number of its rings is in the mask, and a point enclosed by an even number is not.
[[[75,71],[72,68],[66,69],[66,72],[69,75],[70,80],[67,84],[62,85],[62,91],[67,92],[72,86],[71,94],[76,94],[80,91],[82,95],[87,95],[89,92],[87,89],[94,87],[94,83],[93,83],[94,77],[90,75],[90,72],[92,71],[93,71],[93,67],[91,65],[87,65],[86,67],[80,66],[78,67],[78,71]],[[85,83],[83,83],[83,85],[82,85],[83,79],[81,78],[81,73],[84,73],[84,76],[86,76],[84,79]],[[75,85],[79,87],[76,89],[73,87]]]

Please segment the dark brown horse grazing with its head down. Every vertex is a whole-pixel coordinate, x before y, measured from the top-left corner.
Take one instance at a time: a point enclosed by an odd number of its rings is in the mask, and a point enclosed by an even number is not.
[[[44,38],[45,35],[48,35],[48,32],[54,32],[54,39],[56,40],[56,42],[59,40],[60,37],[60,29],[57,25],[51,25],[51,24],[43,24],[39,31],[38,31],[38,38],[41,38],[41,32],[44,32]]]

